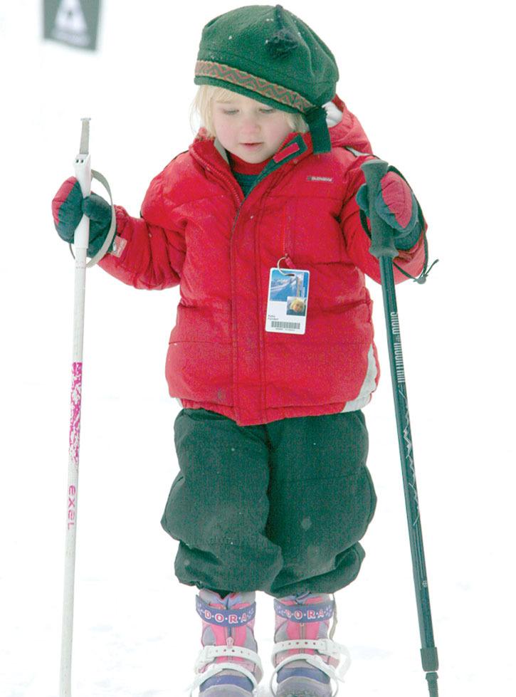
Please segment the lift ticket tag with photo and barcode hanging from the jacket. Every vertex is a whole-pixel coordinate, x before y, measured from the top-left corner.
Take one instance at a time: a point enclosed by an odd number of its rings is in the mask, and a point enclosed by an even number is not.
[[[310,271],[270,269],[266,332],[304,334]]]

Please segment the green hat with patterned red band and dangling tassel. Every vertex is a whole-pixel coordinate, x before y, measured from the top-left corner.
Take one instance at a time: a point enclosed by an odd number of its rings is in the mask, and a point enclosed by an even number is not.
[[[322,105],[335,96],[337,63],[317,34],[281,5],[249,5],[221,14],[202,31],[196,85],[214,85],[269,106],[299,112],[314,152],[329,152]]]

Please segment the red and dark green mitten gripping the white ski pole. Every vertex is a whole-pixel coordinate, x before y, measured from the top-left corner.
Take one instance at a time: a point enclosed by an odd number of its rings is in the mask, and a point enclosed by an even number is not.
[[[104,243],[111,225],[111,206],[98,194],[83,198],[80,184],[69,177],[58,189],[52,201],[52,214],[58,235],[72,243],[75,229],[83,214],[90,219],[88,256],[95,256]]]

